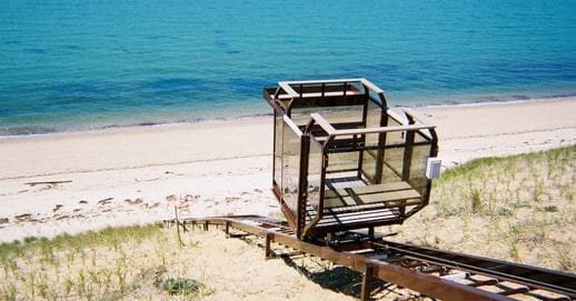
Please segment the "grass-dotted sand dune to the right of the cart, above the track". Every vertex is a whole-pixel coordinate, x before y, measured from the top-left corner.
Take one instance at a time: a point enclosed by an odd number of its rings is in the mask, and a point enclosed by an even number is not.
[[[576,271],[576,147],[483,158],[444,172],[399,238]]]

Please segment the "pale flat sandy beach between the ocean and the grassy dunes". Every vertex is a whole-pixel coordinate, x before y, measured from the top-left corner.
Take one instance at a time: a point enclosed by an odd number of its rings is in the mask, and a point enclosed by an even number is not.
[[[446,168],[576,144],[576,98],[418,108]],[[271,117],[0,138],[0,241],[220,214],[278,214]]]

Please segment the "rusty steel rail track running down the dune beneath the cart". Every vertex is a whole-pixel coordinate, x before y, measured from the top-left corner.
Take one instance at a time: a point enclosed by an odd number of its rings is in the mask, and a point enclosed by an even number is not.
[[[335,241],[299,240],[286,222],[260,215],[166,220],[182,225],[221,225],[265,238],[265,257],[277,257],[272,242],[363,273],[361,300],[374,279],[441,300],[576,300],[576,275],[431,248],[398,243],[360,232]]]

